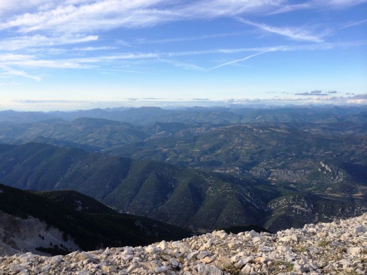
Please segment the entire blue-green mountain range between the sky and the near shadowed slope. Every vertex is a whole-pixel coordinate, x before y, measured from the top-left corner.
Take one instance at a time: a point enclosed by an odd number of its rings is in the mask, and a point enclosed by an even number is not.
[[[4,111],[0,182],[196,232],[301,227],[366,211],[366,110]]]

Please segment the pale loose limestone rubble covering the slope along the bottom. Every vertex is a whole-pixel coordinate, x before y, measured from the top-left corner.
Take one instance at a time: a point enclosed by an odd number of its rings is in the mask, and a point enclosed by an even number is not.
[[[147,247],[0,257],[0,275],[360,275],[366,270],[367,213],[276,234],[214,231]]]

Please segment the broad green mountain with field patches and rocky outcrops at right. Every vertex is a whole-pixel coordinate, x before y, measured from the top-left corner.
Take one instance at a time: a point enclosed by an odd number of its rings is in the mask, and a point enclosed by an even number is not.
[[[205,125],[105,152],[274,184],[294,183],[323,194],[366,194],[366,131],[366,124],[352,123]]]

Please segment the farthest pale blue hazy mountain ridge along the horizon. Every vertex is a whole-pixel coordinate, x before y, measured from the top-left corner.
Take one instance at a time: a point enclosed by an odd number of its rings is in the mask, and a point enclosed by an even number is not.
[[[231,124],[246,122],[367,122],[367,107],[268,107],[268,108],[184,108],[161,109],[159,107],[107,108],[76,110],[72,112],[0,112],[0,122],[31,123],[46,119],[73,120],[80,117],[119,120],[138,125],[154,122],[209,122],[212,124]]]

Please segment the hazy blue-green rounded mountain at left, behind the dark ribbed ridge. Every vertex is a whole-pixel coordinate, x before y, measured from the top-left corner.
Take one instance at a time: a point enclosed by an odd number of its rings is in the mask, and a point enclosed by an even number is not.
[[[31,124],[0,126],[0,139],[8,143],[46,141],[65,147],[82,147],[89,151],[142,141],[148,136],[130,123],[99,118],[73,121],[46,120]],[[79,145],[78,145],[79,144]]]

